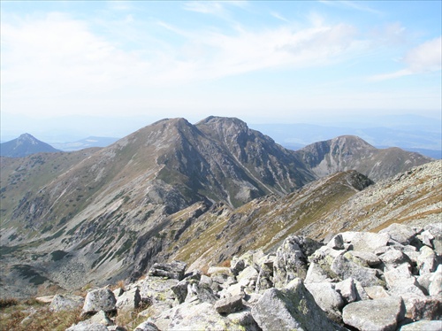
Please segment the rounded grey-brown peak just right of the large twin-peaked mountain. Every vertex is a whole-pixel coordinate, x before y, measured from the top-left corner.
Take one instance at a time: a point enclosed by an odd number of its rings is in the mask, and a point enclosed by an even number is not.
[[[397,147],[377,149],[354,135],[342,135],[328,141],[315,142],[295,153],[319,178],[353,169],[367,175],[373,181],[391,177],[410,167],[433,160]]]

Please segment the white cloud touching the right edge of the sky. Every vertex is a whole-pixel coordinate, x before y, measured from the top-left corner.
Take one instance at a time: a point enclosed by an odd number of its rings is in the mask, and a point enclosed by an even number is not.
[[[370,77],[370,81],[386,81],[419,73],[438,72],[442,69],[442,38],[423,42],[408,50],[403,62],[407,67],[393,73],[381,73]]]

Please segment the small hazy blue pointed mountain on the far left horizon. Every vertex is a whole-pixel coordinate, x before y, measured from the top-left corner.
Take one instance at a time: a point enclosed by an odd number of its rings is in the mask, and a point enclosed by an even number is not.
[[[29,134],[20,135],[19,138],[10,142],[0,143],[0,156],[10,158],[22,158],[27,155],[40,152],[60,151],[46,142],[41,142]]]

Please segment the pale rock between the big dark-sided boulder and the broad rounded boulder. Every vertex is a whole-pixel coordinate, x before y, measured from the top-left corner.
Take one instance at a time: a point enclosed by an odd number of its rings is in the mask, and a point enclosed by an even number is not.
[[[344,306],[344,300],[335,289],[334,284],[313,282],[304,285],[315,298],[316,304],[327,313],[329,319],[339,323],[342,320],[340,310]]]

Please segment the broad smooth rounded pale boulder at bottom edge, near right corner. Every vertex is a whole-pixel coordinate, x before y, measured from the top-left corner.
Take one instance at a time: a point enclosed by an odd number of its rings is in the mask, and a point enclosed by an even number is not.
[[[404,319],[405,305],[400,297],[347,304],[342,311],[344,323],[361,331],[394,331]]]

